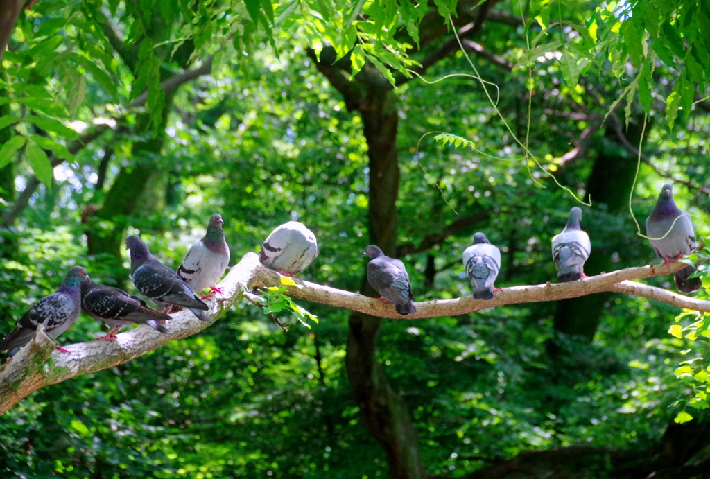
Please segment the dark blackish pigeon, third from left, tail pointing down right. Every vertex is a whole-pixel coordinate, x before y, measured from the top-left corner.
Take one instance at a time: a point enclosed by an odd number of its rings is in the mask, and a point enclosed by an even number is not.
[[[190,309],[197,319],[211,323],[204,304],[178,273],[160,263],[146,248],[146,243],[136,235],[126,238],[126,248],[131,250],[131,277],[138,291],[160,304],[175,304]]]

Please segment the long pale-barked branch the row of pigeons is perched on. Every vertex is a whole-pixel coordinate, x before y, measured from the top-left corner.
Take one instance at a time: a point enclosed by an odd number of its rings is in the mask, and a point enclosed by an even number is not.
[[[393,319],[457,316],[505,304],[555,301],[602,291],[633,294],[681,308],[710,312],[710,301],[702,301],[630,281],[634,278],[670,275],[684,267],[684,263],[643,266],[608,272],[578,282],[562,284],[547,282],[544,285],[507,287],[496,292],[496,296],[491,301],[463,297],[420,302],[417,303],[417,312],[408,316],[400,316],[391,304],[383,304],[377,299],[312,282],[304,281],[295,287],[287,287],[287,294],[297,299]],[[244,292],[254,287],[281,286],[281,277],[277,272],[261,265],[256,253],[246,253],[241,261],[231,268],[220,285],[224,287],[224,296],[213,298],[208,302],[209,316],[214,321],[222,317],[232,304],[241,299]],[[198,321],[190,312],[180,312],[173,315],[173,319],[170,319],[167,326],[170,330],[169,334],[160,334],[148,326],[140,326],[119,334],[113,342],[89,341],[71,344],[66,346],[70,353],[55,351],[54,341],[51,341],[44,334],[43,329],[39,328],[33,341],[22,348],[6,364],[4,370],[0,371],[0,414],[4,414],[24,397],[42,387],[126,363],[159,348],[168,341],[200,333],[210,324]]]

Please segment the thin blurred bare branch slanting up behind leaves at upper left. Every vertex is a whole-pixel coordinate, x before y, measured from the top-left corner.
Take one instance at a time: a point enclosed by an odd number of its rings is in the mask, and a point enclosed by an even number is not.
[[[173,75],[161,84],[166,95],[174,93],[182,84],[190,82],[192,79],[200,77],[202,75],[208,75],[212,71],[212,58],[202,63],[200,67],[192,68],[190,70],[185,70],[185,72],[179,73],[178,75]],[[131,101],[128,108],[137,108],[138,106],[143,106],[148,99],[147,93],[142,93],[138,95],[136,99]],[[82,150],[86,145],[94,141],[99,136],[109,130],[109,126],[106,123],[100,125],[95,125],[87,133],[84,133],[78,140],[72,141],[67,145],[67,150],[69,153],[75,154]],[[58,158],[54,153],[48,155],[52,167],[60,165],[64,159]],[[0,220],[0,228],[8,228],[15,222],[15,220],[22,214],[22,211],[27,207],[30,198],[35,193],[35,189],[40,185],[39,180],[34,175],[27,180],[25,189],[22,190],[20,195],[17,197],[15,202],[13,202],[12,208],[5,211],[5,214]]]

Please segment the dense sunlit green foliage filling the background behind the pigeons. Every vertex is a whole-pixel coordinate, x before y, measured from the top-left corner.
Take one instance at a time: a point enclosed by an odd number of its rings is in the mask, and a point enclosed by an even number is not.
[[[579,202],[587,274],[656,262],[637,232],[665,182],[710,233],[708,15],[691,0],[39,1],[0,67],[0,332],[71,265],[130,290],[127,234],[177,266],[214,212],[232,265],[303,221],[320,244],[303,277],[343,290],[364,288],[362,250],[386,238],[418,300],[471,294],[474,231],[501,247],[497,286],[552,280],[550,240]],[[382,158],[398,189],[378,183]],[[0,421],[0,470],[388,476],[346,363],[351,312],[302,305],[310,329],[244,302],[37,392]],[[376,359],[429,474],[579,444],[652,456],[674,418],[706,424],[710,321],[678,314],[595,294],[388,320]],[[59,341],[102,327],[82,316]]]

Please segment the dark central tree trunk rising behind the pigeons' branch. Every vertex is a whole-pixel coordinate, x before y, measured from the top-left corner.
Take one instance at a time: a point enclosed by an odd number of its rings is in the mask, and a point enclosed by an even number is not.
[[[397,109],[391,89],[370,89],[361,116],[370,166],[370,241],[386,254],[397,246],[398,165]],[[368,295],[374,295],[363,278]],[[382,444],[393,478],[425,478],[426,469],[417,444],[417,431],[400,395],[387,383],[377,360],[376,342],[382,319],[355,313],[350,316],[346,368],[365,428]]]

